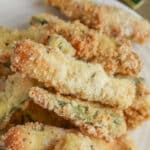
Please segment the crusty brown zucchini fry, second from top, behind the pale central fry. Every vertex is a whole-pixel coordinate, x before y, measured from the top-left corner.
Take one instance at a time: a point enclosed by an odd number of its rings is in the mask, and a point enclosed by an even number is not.
[[[64,36],[76,49],[76,57],[88,62],[100,63],[109,74],[137,75],[142,68],[139,56],[132,51],[130,42],[110,38],[87,28],[79,22],[65,22],[51,14],[33,16],[31,24],[45,26],[50,34]],[[45,44],[49,43],[49,35]]]

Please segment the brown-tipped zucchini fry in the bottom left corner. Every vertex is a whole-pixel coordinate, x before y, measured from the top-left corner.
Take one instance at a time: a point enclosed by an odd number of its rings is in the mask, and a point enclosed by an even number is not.
[[[48,150],[64,134],[65,131],[62,128],[27,123],[12,127],[6,133],[4,143],[9,150]]]

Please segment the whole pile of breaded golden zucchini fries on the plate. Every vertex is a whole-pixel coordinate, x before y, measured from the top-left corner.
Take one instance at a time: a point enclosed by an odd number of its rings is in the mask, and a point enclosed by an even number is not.
[[[136,150],[128,131],[150,118],[150,88],[131,44],[150,42],[149,22],[91,0],[47,4],[70,21],[0,27],[0,148]]]

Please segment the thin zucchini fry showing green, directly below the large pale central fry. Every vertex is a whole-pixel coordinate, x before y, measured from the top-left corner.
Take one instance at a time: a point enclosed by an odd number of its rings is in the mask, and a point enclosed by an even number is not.
[[[65,98],[38,87],[31,88],[29,96],[41,107],[71,120],[85,134],[111,141],[126,132],[121,110]]]

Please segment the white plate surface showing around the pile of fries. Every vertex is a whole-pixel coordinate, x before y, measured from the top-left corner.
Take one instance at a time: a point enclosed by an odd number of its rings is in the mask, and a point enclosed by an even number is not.
[[[129,11],[133,15],[137,15],[135,12],[128,9],[128,7],[125,7],[115,0],[94,1],[121,7]],[[28,26],[30,16],[47,11],[52,11],[55,14],[58,14],[55,9],[45,7],[43,4],[43,0],[0,0],[0,25],[17,28],[26,27]],[[140,57],[143,59],[144,69],[141,75],[145,77],[146,81],[150,85],[150,45],[134,45],[134,49],[137,53],[140,54]],[[150,122],[145,123],[143,126],[134,131],[132,133],[132,137],[137,143],[139,150],[150,150]]]

